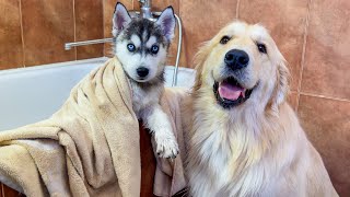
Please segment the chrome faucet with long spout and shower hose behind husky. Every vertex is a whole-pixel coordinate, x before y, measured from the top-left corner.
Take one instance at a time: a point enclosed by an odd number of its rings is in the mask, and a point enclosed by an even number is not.
[[[129,14],[131,18],[143,18],[151,21],[156,21],[156,19],[161,15],[162,12],[152,12],[152,0],[139,0],[141,4],[141,11],[130,11]],[[179,56],[182,53],[182,42],[183,42],[183,25],[180,19],[176,15],[175,19],[177,21],[178,25],[178,43],[177,43],[177,55],[176,55],[176,61],[175,61],[175,68],[174,68],[174,74],[173,74],[173,81],[172,86],[176,85],[177,83],[177,71],[178,71],[178,63],[179,63]],[[100,43],[112,43],[114,42],[113,37],[109,38],[103,38],[103,39],[91,39],[91,40],[83,40],[83,42],[74,42],[74,43],[66,43],[65,49],[70,50],[72,47],[77,46],[84,46],[84,45],[93,45],[93,44],[100,44]]]

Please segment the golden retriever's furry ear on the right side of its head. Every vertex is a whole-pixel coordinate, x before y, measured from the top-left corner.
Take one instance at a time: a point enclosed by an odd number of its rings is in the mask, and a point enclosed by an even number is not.
[[[271,100],[271,106],[275,112],[278,112],[278,107],[285,101],[289,93],[289,78],[290,73],[287,67],[287,61],[284,58],[281,58],[277,66],[277,82]]]

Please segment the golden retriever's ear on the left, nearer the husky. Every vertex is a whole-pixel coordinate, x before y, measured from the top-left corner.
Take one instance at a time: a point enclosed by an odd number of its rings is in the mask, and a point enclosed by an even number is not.
[[[201,86],[201,76],[202,76],[202,71],[203,71],[203,65],[207,60],[207,57],[210,54],[210,42],[203,43],[202,46],[199,48],[198,53],[195,56],[195,60],[194,63],[196,66],[196,82],[194,85],[194,91],[198,91]]]

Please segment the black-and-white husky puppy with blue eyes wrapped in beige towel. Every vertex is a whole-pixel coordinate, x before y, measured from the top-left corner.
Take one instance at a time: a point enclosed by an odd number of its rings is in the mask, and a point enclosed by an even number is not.
[[[121,3],[113,16],[114,54],[122,65],[132,89],[132,107],[154,137],[160,158],[175,158],[178,146],[159,102],[164,91],[164,66],[174,37],[175,16],[166,8],[158,21],[131,19]]]

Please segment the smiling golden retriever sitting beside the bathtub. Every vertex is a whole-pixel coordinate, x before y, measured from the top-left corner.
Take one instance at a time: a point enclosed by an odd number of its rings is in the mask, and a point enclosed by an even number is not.
[[[191,196],[338,196],[285,102],[289,71],[265,27],[233,22],[196,59],[186,105]]]

